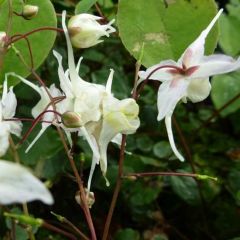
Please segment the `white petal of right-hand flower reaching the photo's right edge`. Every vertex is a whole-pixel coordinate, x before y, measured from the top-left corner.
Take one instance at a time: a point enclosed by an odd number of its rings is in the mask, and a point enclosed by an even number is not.
[[[203,57],[199,68],[191,75],[191,78],[206,78],[217,74],[235,71],[240,68],[240,57],[235,60],[232,57],[216,54]]]

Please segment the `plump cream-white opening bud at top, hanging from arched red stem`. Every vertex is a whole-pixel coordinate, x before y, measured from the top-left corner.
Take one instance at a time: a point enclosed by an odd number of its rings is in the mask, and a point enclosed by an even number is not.
[[[68,22],[68,31],[72,45],[76,48],[89,48],[103,40],[102,36],[109,37],[109,34],[116,30],[111,26],[112,20],[108,24],[101,25],[97,22],[101,17],[91,14],[79,14],[70,18]]]

